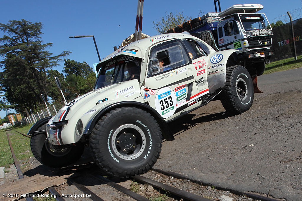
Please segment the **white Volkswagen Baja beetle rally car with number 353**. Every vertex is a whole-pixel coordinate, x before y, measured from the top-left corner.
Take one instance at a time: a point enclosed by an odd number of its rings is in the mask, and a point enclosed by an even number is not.
[[[156,162],[167,122],[220,98],[233,114],[253,102],[253,83],[236,50],[216,52],[185,33],[162,34],[124,46],[97,65],[93,91],[29,131],[36,159],[51,167],[78,160],[90,146],[96,164],[120,177],[143,174]]]

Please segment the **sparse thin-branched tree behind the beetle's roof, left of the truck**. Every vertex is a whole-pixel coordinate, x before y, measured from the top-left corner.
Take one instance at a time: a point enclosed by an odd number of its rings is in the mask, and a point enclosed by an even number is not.
[[[162,17],[158,22],[153,22],[153,28],[156,29],[158,34],[165,33],[167,30],[177,27],[180,24],[190,20],[192,17],[184,16],[183,12],[176,13],[175,15],[166,12],[166,16]]]

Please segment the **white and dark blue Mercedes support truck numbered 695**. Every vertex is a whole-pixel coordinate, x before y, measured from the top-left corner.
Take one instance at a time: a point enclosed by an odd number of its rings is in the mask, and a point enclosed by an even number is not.
[[[262,8],[261,4],[233,5],[220,13],[207,13],[189,20],[167,33],[188,31],[214,48],[217,45],[217,50],[238,50],[234,65],[246,67],[256,79],[263,74],[265,64],[274,54],[271,50],[271,25],[264,13],[258,13]],[[257,86],[256,81],[254,87]]]

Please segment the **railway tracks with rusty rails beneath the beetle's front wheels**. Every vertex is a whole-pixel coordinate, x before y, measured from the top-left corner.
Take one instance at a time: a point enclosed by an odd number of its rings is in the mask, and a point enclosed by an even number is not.
[[[17,131],[18,132],[18,131]],[[19,133],[19,132],[18,132]],[[20,133],[24,135],[23,133]],[[7,133],[8,142],[11,147],[11,153],[14,158],[14,164],[16,166],[19,179],[23,179],[23,173],[18,164],[18,160],[14,154],[13,147]],[[232,192],[231,189],[219,189],[217,187],[204,186],[201,181],[191,179],[185,175],[178,174],[175,172],[165,172],[159,169],[153,169],[143,176],[137,175],[129,179],[120,179],[117,177],[106,177],[104,176],[97,166],[93,164],[85,164],[73,167],[66,167],[56,170],[55,172],[60,174],[62,172],[72,172],[72,176],[66,179],[66,184],[62,184],[58,187],[48,187],[46,190],[37,191],[31,196],[24,196],[28,201],[33,200],[34,195],[41,193],[50,193],[51,197],[58,201],[73,201],[73,200],[192,200],[192,201],[210,201],[210,200],[223,200],[223,195],[232,195],[235,200],[262,200],[262,201],[280,201],[280,199],[274,199],[268,195],[259,195],[250,192]],[[156,175],[156,176],[154,176]],[[177,181],[176,181],[177,180]],[[177,187],[178,180],[184,181],[186,184],[182,187]],[[133,184],[137,185],[136,190],[133,190]],[[182,189],[185,186],[193,186],[189,189]],[[139,190],[138,190],[139,188]],[[133,191],[132,191],[132,190]],[[147,189],[147,190],[146,190]],[[209,194],[201,194],[200,190],[203,189],[205,192],[220,191],[220,197],[214,197]],[[155,193],[154,193],[155,192]],[[161,194],[160,194],[161,193]],[[237,195],[235,195],[235,193]],[[112,194],[112,196],[108,196]],[[0,195],[1,196],[1,195]],[[122,197],[122,199],[121,199]],[[231,200],[231,197],[229,197]],[[1,197],[0,197],[1,199]],[[9,199],[6,199],[9,200]],[[227,199],[224,199],[227,200]]]

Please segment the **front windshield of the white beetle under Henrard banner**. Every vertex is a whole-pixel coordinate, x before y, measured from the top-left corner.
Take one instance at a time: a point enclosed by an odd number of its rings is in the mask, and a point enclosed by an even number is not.
[[[94,89],[128,80],[140,80],[141,61],[141,58],[120,55],[104,62]]]

